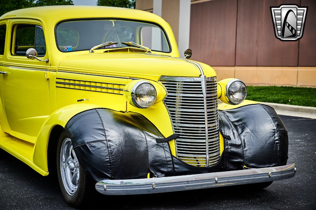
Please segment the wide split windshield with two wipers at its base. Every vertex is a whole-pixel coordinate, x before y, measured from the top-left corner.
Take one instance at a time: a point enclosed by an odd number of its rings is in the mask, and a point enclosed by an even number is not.
[[[131,47],[122,42],[134,42],[152,51],[170,52],[162,29],[154,24],[123,20],[84,20],[62,22],[56,27],[57,46],[62,52],[89,50],[106,42],[117,44],[100,47]]]

